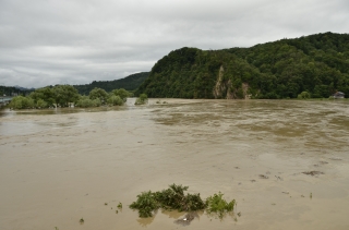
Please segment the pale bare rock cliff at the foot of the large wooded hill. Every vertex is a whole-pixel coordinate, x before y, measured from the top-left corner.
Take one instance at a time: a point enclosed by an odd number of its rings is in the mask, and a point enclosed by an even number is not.
[[[213,90],[216,99],[250,99],[249,84],[242,83],[240,87],[233,87],[231,80],[225,77],[225,69],[221,65],[218,72],[218,78]]]

